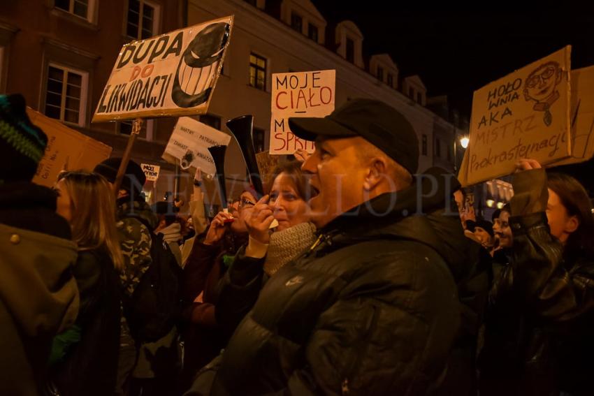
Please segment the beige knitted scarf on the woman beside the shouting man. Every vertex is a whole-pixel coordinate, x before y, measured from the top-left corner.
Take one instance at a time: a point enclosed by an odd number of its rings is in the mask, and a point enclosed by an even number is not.
[[[280,268],[302,254],[316,240],[316,227],[312,223],[300,223],[270,235],[264,272],[272,276]]]

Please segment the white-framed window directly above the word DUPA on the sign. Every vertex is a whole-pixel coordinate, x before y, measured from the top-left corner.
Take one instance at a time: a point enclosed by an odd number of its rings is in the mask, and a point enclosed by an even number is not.
[[[128,0],[126,35],[142,40],[158,34],[161,9],[147,0]]]

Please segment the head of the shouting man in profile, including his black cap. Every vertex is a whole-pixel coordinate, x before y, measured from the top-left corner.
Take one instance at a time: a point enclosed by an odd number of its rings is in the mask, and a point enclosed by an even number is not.
[[[310,206],[318,228],[375,196],[410,186],[418,168],[412,125],[380,101],[354,99],[324,118],[290,118],[289,127],[317,144],[303,170],[313,175],[317,195]]]

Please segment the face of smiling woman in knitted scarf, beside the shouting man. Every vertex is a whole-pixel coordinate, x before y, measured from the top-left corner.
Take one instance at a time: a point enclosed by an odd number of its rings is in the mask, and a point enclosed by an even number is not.
[[[275,178],[270,189],[269,205],[278,221],[277,231],[310,221],[310,208],[299,196],[295,180],[287,173]]]

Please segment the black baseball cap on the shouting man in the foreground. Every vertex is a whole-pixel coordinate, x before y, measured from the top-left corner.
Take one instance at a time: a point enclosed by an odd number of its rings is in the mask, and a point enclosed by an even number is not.
[[[398,110],[384,102],[357,98],[326,117],[290,117],[289,128],[298,138],[316,140],[361,136],[410,173],[419,167],[419,138]]]

